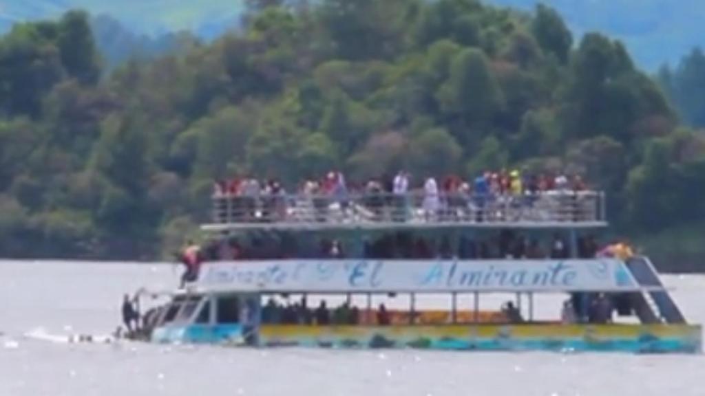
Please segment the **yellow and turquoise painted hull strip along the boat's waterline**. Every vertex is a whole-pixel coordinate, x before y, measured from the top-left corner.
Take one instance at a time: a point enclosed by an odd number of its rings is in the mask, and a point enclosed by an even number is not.
[[[262,326],[245,342],[240,326],[160,328],[157,342],[228,343],[259,347],[415,348],[474,351],[700,353],[693,325]]]

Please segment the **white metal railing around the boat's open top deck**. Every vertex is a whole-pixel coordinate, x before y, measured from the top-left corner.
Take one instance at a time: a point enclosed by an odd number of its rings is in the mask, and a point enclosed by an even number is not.
[[[453,225],[465,223],[603,223],[603,192],[535,194],[216,194],[216,225]]]

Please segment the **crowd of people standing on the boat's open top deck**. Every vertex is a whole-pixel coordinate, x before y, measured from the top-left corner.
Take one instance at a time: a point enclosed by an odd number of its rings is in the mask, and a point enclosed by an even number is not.
[[[422,181],[422,182],[420,182]],[[372,220],[406,221],[421,211],[427,220],[508,220],[517,209],[532,206],[539,197],[553,194],[559,202],[575,206],[577,192],[588,191],[580,175],[548,175],[520,171],[485,172],[476,178],[457,175],[428,177],[412,182],[400,171],[393,177],[373,178],[348,184],[343,173],[331,171],[321,180],[309,179],[288,194],[278,180],[235,178],[214,183],[216,214],[227,222],[252,221],[329,221],[331,206],[344,218],[346,214],[366,215]],[[579,220],[580,208],[569,207],[573,220]],[[299,209],[294,211],[291,209]],[[312,210],[311,210],[312,209]],[[350,210],[353,209],[353,210]],[[299,216],[297,216],[297,214]],[[513,216],[512,216],[513,215]]]

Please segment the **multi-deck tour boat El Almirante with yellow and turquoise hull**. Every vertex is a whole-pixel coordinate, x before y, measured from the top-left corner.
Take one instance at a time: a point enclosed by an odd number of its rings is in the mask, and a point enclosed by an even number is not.
[[[240,347],[701,352],[701,326],[685,320],[646,256],[581,252],[587,235],[608,226],[603,192],[447,194],[431,211],[425,199],[379,191],[215,194],[203,232],[220,247],[259,247],[204,262],[193,282],[152,312],[145,338]],[[565,243],[564,254],[498,257],[478,247],[491,235],[519,234],[552,237]],[[384,238],[412,253],[385,252],[374,242]],[[272,240],[276,254],[267,248]],[[320,240],[335,241],[330,254],[305,253]],[[446,252],[419,254],[414,240],[441,241]],[[506,296],[510,302],[497,309]],[[539,307],[546,299],[553,307]],[[539,318],[539,310],[555,317]]]

